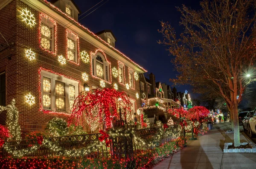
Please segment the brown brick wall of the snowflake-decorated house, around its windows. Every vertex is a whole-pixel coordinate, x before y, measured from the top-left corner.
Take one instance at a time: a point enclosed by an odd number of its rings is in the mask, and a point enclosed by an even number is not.
[[[36,25],[30,27],[26,25],[20,18],[20,12],[23,8],[27,8],[34,14]],[[6,23],[6,17],[9,21]],[[0,31],[6,37],[8,42],[15,40],[15,51],[12,60],[4,59],[0,63],[0,68],[6,69],[6,104],[9,104],[12,98],[16,100],[16,106],[20,112],[19,123],[23,135],[32,131],[44,131],[47,122],[54,118],[64,118],[67,120],[68,115],[56,113],[44,113],[39,111],[39,91],[40,77],[38,70],[40,67],[52,70],[56,73],[64,74],[65,76],[72,77],[79,80],[79,91],[83,90],[84,81],[81,78],[81,73],[87,73],[90,76],[90,63],[84,63],[80,60],[80,65],[73,64],[67,61],[66,65],[61,65],[58,62],[58,55],[63,55],[65,58],[67,43],[66,43],[66,28],[57,23],[57,55],[50,54],[40,48],[39,44],[39,17],[40,12],[32,7],[26,5],[20,0],[14,0],[8,6],[0,11]],[[48,16],[50,17],[50,16]],[[76,32],[74,32],[76,34]],[[1,44],[4,43],[0,38]],[[98,48],[79,37],[80,51],[87,51],[87,53],[95,52]],[[31,48],[36,52],[36,59],[30,61],[25,57],[24,50]],[[106,54],[111,68],[118,67],[118,61],[113,57]],[[125,66],[125,83],[129,83],[128,67]],[[135,80],[135,79],[134,79]],[[89,77],[89,86],[99,87],[99,79]],[[139,81],[135,80],[135,90],[126,90],[124,85],[118,83],[118,79],[112,76],[112,84],[117,83],[119,90],[127,92],[131,99],[136,100],[136,110],[140,107],[140,99],[136,98],[136,93],[140,92]],[[106,87],[111,87],[106,83]],[[35,96],[35,104],[29,106],[25,103],[24,96],[31,93]],[[2,119],[2,116],[0,116]],[[84,124],[87,125],[87,124]],[[89,132],[88,127],[86,128]]]

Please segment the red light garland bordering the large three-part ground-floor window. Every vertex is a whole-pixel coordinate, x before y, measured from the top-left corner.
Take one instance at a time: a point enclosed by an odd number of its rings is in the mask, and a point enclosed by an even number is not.
[[[50,72],[50,73],[54,73],[54,74],[56,74],[56,75],[58,75],[58,76],[64,76],[65,78],[67,78],[67,79],[72,79],[72,80],[74,80],[74,81],[76,81],[76,82],[78,82],[79,84],[80,84],[80,81],[79,80],[76,80],[76,79],[74,79],[74,78],[72,78],[72,77],[69,77],[69,76],[66,76],[66,75],[64,75],[64,74],[61,74],[61,73],[57,73],[57,72],[54,72],[54,71],[52,71],[52,70],[48,70],[48,69],[46,69],[46,68],[42,68],[42,67],[40,67],[39,69],[38,69],[38,74],[39,74],[39,84],[38,84],[38,89],[39,89],[39,105],[40,105],[40,111],[43,111],[44,113],[55,113],[55,114],[63,114],[63,115],[70,115],[70,113],[67,113],[67,112],[56,112],[56,111],[52,111],[52,110],[44,110],[44,107],[43,107],[43,104],[42,104],[42,91],[41,91],[41,83],[42,83],[42,81],[41,81],[41,78],[42,78],[42,76],[41,76],[41,70],[45,70],[45,71],[47,71],[47,72]],[[78,90],[79,90],[79,88],[78,88]],[[43,98],[44,99],[44,98]],[[47,98],[45,98],[45,100],[46,101],[50,101],[50,98],[49,98],[49,100],[47,99]],[[50,104],[50,102],[49,102],[49,104]]]

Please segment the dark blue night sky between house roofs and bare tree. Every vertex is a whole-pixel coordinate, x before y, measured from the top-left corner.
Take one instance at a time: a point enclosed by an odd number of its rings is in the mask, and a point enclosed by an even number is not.
[[[101,0],[74,1],[81,13],[84,13]],[[169,56],[165,46],[157,44],[157,40],[162,39],[161,34],[157,32],[157,29],[161,28],[159,21],[168,21],[177,34],[180,34],[183,28],[179,26],[180,12],[175,6],[185,4],[198,9],[200,8],[199,2],[199,0],[109,0],[79,22],[94,33],[111,29],[117,39],[116,48],[119,51],[148,70],[148,73],[154,73],[156,82],[173,85],[169,79],[175,78],[177,72],[174,71],[170,62],[172,56]],[[177,86],[177,90],[181,92],[188,90],[192,93],[191,88],[190,86]]]

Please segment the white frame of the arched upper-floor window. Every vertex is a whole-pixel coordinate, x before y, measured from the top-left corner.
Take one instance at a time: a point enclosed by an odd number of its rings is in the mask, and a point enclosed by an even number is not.
[[[97,76],[97,69],[96,69],[97,56],[100,56],[103,60],[103,80],[110,82],[109,63],[106,61],[105,57],[100,52],[97,52],[96,55],[95,54],[92,55],[92,62],[93,62],[92,64],[93,64],[93,69],[94,69],[92,74],[93,74],[93,76],[95,76],[99,79],[102,79]],[[106,67],[107,67],[107,73],[106,73]],[[108,79],[107,79],[107,77],[108,77]]]

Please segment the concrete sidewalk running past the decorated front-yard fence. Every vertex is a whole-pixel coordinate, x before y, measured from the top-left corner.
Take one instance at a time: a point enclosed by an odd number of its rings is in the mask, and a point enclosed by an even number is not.
[[[187,147],[181,149],[153,169],[255,169],[256,153],[223,153],[225,142],[233,142],[233,133],[225,133],[230,123],[214,124],[198,140],[187,141]],[[248,142],[240,134],[241,142]]]

